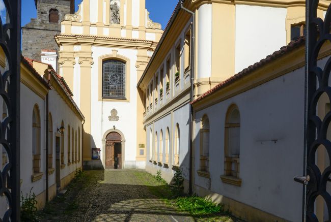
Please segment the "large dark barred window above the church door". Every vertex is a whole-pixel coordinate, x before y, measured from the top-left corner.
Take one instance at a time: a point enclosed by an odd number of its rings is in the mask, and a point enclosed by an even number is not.
[[[125,98],[125,62],[105,60],[102,62],[102,97]]]

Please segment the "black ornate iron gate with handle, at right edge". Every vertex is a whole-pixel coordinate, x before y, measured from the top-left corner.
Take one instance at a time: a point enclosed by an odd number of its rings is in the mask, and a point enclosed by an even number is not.
[[[321,196],[327,206],[328,219],[331,220],[331,196],[326,191],[331,167],[328,166],[321,172],[316,162],[319,146],[324,146],[331,162],[331,142],[327,140],[327,128],[331,121],[331,111],[323,119],[317,115],[317,105],[320,97],[325,92],[331,101],[331,87],[329,75],[331,71],[331,57],[324,67],[317,65],[318,54],[327,41],[331,41],[330,24],[331,8],[328,7],[324,21],[317,17],[318,0],[306,2],[306,121],[305,121],[305,175],[296,177],[307,185],[304,191],[304,221],[318,221],[314,213],[314,206],[318,196]]]

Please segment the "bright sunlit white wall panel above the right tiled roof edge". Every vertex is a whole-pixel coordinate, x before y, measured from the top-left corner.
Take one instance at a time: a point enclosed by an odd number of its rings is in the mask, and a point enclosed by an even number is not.
[[[236,73],[286,45],[286,14],[286,8],[236,5]]]

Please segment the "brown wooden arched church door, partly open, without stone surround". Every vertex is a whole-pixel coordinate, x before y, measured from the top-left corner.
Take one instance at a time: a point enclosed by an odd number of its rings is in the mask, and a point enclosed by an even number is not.
[[[122,137],[117,132],[106,136],[106,169],[122,169]]]

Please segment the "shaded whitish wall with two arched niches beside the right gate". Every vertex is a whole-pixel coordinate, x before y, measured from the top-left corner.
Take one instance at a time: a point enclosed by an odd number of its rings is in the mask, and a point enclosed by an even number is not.
[[[196,114],[195,171],[199,169],[200,120],[210,122],[210,179],[195,184],[290,221],[301,221],[304,160],[304,68],[264,83]],[[240,187],[223,183],[227,109],[240,112]],[[274,143],[272,140],[277,140]],[[211,182],[211,184],[208,184]],[[289,210],[291,209],[291,210]]]

